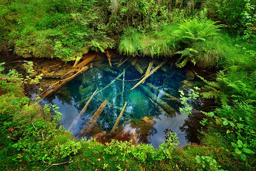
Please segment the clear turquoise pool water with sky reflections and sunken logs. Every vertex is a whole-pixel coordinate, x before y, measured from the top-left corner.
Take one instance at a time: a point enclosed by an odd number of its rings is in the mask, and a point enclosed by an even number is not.
[[[48,97],[46,101],[60,107],[59,111],[63,113],[61,121],[63,126],[68,129],[89,97],[98,88],[97,94],[92,98],[86,112],[71,128],[72,136],[75,137],[89,138],[93,136],[103,143],[111,139],[133,139],[136,143],[151,143],[158,147],[165,142],[165,129],[171,129],[177,133],[181,146],[194,142],[190,140],[196,135],[193,135],[186,125],[189,123],[188,115],[182,115],[179,112],[182,104],[177,99],[169,100],[170,97],[166,96],[168,93],[178,98],[179,88],[188,86],[182,86],[184,84],[182,81],[186,79],[185,69],[176,68],[172,66],[172,62],[167,62],[157,72],[149,76],[143,86],[132,91],[130,89],[139,80],[121,81],[141,78],[143,74],[140,71],[145,73],[151,61],[151,59],[138,60],[136,64],[132,65],[133,61],[130,59],[120,67],[116,67],[117,63],[109,67],[108,62],[96,61],[90,70],[66,84],[55,95]],[[151,70],[159,63],[154,60]],[[79,134],[104,100],[107,100],[107,106],[94,127],[90,129],[90,133]],[[125,102],[127,102],[127,107],[125,107],[121,121],[115,129],[115,133],[109,135]],[[201,105],[199,102],[198,104]]]

